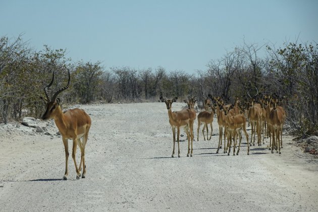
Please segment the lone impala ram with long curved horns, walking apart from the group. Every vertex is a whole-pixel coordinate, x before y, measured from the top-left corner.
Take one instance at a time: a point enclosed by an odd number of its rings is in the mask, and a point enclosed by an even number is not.
[[[86,166],[85,166],[85,145],[88,138],[88,131],[91,125],[90,117],[81,109],[71,109],[66,112],[62,112],[60,98],[57,96],[66,90],[70,86],[70,71],[69,73],[69,80],[67,86],[58,90],[52,98],[49,97],[47,89],[52,85],[54,81],[54,72],[53,77],[49,85],[44,87],[44,93],[46,99],[42,98],[43,102],[45,103],[45,112],[42,115],[42,120],[54,119],[55,124],[57,125],[63,139],[63,144],[65,148],[65,174],[63,179],[67,180],[69,171],[68,171],[68,158],[69,158],[69,146],[68,146],[68,139],[73,140],[73,149],[72,149],[72,158],[75,165],[76,170],[76,179],[79,179],[80,176],[85,178],[86,174]],[[83,138],[83,142],[80,140]],[[77,145],[80,147],[81,150],[81,162],[79,168],[77,168],[75,154]],[[81,174],[81,167],[83,166],[83,173]]]

